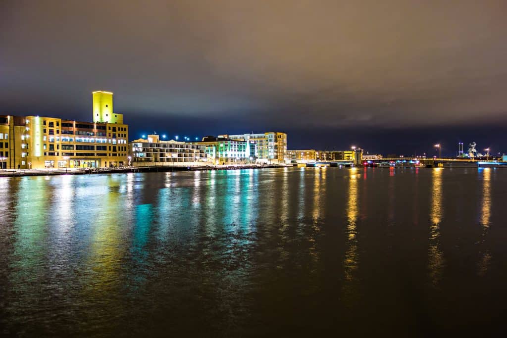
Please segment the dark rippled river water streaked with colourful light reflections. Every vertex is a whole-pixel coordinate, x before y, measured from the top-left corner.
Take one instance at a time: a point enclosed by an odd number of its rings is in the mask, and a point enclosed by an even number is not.
[[[0,333],[490,335],[507,170],[0,178]]]

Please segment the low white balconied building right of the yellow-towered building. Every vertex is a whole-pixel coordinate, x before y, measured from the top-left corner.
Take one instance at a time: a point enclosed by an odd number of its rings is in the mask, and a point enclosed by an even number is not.
[[[148,135],[129,142],[131,166],[170,166],[210,164],[206,155],[206,145],[160,140],[159,135]]]

